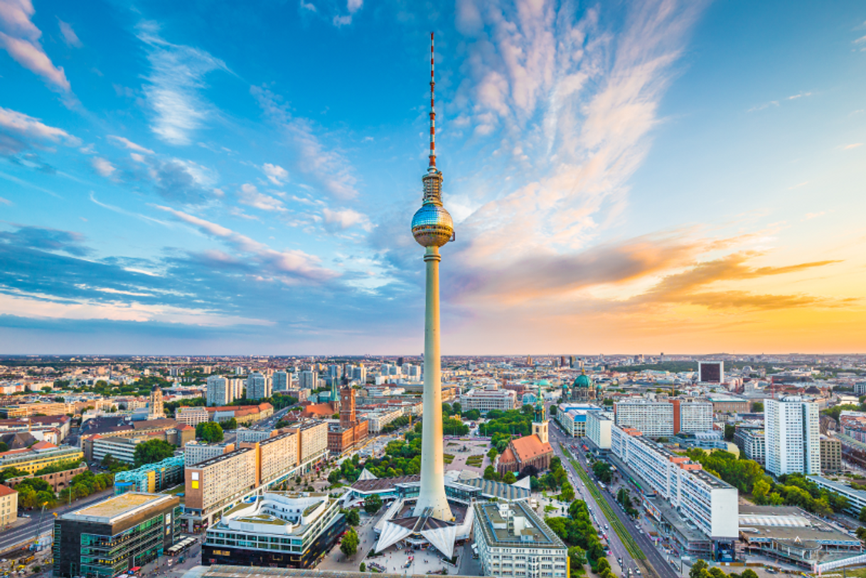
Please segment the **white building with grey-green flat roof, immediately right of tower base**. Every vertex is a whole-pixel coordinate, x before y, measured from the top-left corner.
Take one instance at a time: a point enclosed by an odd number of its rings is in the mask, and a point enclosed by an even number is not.
[[[523,502],[475,503],[475,545],[485,576],[567,578],[568,549]]]

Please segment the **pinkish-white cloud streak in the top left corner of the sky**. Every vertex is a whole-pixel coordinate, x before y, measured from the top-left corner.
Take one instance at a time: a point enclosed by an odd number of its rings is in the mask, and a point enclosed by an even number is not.
[[[71,87],[66,73],[45,54],[39,42],[42,30],[30,22],[35,13],[31,0],[0,0],[0,47],[18,64],[42,76],[50,87],[68,93]]]

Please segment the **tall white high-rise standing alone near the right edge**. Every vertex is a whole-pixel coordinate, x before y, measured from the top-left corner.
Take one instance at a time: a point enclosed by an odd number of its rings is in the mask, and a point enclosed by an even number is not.
[[[766,471],[774,476],[819,474],[818,404],[798,396],[764,400]]]

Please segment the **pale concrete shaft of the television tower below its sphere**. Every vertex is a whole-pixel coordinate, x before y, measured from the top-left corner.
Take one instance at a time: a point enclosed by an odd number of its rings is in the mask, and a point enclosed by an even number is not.
[[[424,307],[424,418],[421,452],[421,488],[415,505],[415,516],[433,509],[433,517],[451,520],[451,507],[445,496],[445,461],[442,433],[442,361],[439,348],[439,256],[438,247],[427,247],[424,263],[427,269]]]

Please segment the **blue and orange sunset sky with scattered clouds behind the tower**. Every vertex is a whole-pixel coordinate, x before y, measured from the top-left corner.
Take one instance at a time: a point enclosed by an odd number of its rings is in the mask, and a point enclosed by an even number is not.
[[[866,351],[866,5],[0,0],[0,351]]]

